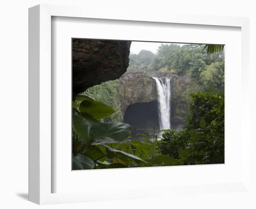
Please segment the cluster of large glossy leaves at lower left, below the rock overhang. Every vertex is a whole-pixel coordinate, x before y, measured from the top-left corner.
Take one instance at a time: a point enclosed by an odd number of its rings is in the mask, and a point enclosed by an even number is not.
[[[147,163],[140,157],[107,145],[124,142],[132,131],[128,124],[97,120],[114,112],[110,106],[88,97],[78,96],[77,101],[73,108],[73,170],[121,168],[132,163]]]

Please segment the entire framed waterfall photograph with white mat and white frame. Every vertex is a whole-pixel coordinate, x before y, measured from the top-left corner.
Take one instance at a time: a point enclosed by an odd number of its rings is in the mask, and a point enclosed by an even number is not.
[[[29,200],[249,192],[248,80],[246,18],[30,8]]]

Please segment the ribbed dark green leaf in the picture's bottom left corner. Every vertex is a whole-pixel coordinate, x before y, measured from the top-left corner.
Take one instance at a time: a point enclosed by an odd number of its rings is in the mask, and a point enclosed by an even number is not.
[[[73,156],[73,163],[72,163],[73,170],[93,169],[94,165],[95,163],[90,157],[80,155],[80,154]]]

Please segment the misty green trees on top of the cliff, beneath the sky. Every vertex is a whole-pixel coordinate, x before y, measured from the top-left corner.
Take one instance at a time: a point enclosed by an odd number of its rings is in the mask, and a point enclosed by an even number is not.
[[[224,90],[224,53],[209,54],[204,47],[162,44],[156,54],[141,50],[138,54],[130,54],[128,71],[172,73],[193,79],[202,90]]]

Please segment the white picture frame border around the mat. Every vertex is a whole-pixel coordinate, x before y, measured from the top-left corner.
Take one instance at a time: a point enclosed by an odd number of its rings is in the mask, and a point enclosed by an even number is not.
[[[243,141],[241,140],[241,175],[239,179],[229,183],[210,184],[196,183],[196,185],[184,184],[162,186],[159,188],[132,188],[128,190],[129,195],[125,190],[116,193],[113,189],[110,194],[104,195],[104,192],[95,194],[94,192],[77,192],[53,191],[53,173],[52,173],[52,157],[54,150],[52,149],[52,17],[72,17],[72,18],[87,18],[99,20],[118,20],[118,21],[139,21],[141,23],[152,22],[154,24],[172,23],[172,24],[186,24],[191,27],[196,26],[231,26],[241,28],[241,72],[242,81],[239,86],[241,91],[241,121],[249,121],[249,19],[238,17],[219,17],[206,15],[168,15],[154,17],[150,15],[125,15],[121,13],[94,13],[94,10],[81,7],[67,7],[67,6],[49,6],[38,5],[29,9],[29,200],[38,204],[51,203],[68,203],[68,202],[86,202],[97,200],[115,200],[133,197],[145,196],[162,196],[164,194],[178,193],[184,195],[182,188],[187,187],[191,193],[195,191],[205,193],[222,193],[232,192],[237,190],[239,192],[250,192],[249,188],[249,132],[244,131]],[[80,37],[79,37],[80,38]],[[83,37],[81,37],[83,38]],[[147,39],[148,40],[148,39]],[[71,70],[71,67],[70,67]],[[249,122],[248,122],[249,123]],[[239,126],[241,131],[249,127],[248,123],[241,123]],[[247,132],[247,133],[246,133]],[[241,136],[240,136],[241,137]],[[239,141],[240,142],[240,141]],[[67,154],[68,155],[68,154]],[[215,169],[216,167],[213,167]],[[151,168],[156,169],[156,168]],[[158,172],[165,172],[165,170]],[[210,169],[210,168],[209,168]],[[146,173],[145,169],[141,170]],[[152,170],[151,170],[152,171]],[[184,170],[187,172],[186,170]],[[80,171],[77,171],[77,173]],[[112,171],[113,172],[113,171]],[[127,175],[127,170],[118,170],[115,172]],[[137,171],[136,171],[137,172]],[[196,172],[196,171],[195,171]],[[88,174],[88,173],[87,173]],[[84,174],[84,175],[87,175]],[[55,179],[56,180],[56,179]],[[118,188],[118,187],[116,187]],[[67,189],[68,190],[68,189]],[[185,192],[186,193],[186,192]],[[115,195],[115,196],[114,196]]]

